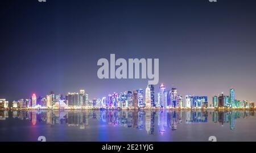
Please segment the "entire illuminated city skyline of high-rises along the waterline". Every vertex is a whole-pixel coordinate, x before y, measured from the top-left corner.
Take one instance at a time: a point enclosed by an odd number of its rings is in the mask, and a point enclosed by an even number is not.
[[[8,108],[8,101],[0,99],[0,108]],[[13,101],[10,106],[17,109],[206,109],[206,108],[251,108],[254,102],[235,99],[235,90],[230,89],[229,96],[221,93],[213,96],[212,104],[208,105],[207,96],[186,95],[185,100],[176,88],[166,89],[164,84],[159,85],[155,92],[154,85],[147,85],[146,89],[137,89],[109,94],[108,97],[93,98],[89,100],[89,94],[81,89],[79,93],[67,93],[65,97],[50,92],[46,97],[36,97],[32,94],[29,99]]]

